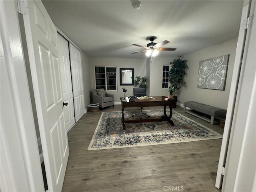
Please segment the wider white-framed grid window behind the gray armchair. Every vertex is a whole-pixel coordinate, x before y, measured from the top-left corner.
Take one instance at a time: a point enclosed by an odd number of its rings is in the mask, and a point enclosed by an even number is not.
[[[95,67],[95,88],[116,90],[116,66],[94,66]]]

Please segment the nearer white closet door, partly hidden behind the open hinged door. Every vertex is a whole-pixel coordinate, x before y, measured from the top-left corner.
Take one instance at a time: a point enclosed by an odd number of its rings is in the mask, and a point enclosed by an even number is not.
[[[68,104],[66,107],[64,107],[66,131],[68,131],[75,123],[74,100],[73,100],[73,90],[72,90],[72,81],[71,81],[70,60],[69,60],[69,48],[68,48],[68,41],[65,38],[63,38],[60,34],[57,34],[57,36],[58,36],[60,76],[62,80],[62,96],[63,96],[64,103]]]

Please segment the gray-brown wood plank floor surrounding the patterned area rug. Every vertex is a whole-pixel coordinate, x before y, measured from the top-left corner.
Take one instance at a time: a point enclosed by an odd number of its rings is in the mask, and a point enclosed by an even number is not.
[[[103,111],[120,110],[121,105],[115,105]],[[218,125],[184,113],[179,106],[174,110],[223,134]],[[221,139],[87,151],[101,113],[87,112],[68,132],[63,192],[220,191],[214,184]]]

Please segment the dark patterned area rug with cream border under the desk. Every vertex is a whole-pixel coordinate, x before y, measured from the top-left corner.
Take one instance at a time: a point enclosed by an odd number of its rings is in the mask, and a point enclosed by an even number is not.
[[[125,112],[125,119],[139,111]],[[160,118],[163,110],[144,110],[150,118]],[[168,112],[167,112],[168,113]],[[122,114],[102,112],[92,140],[87,150],[113,149],[135,146],[170,144],[199,140],[220,139],[222,135],[173,111],[172,120],[175,126],[167,121],[143,122],[122,126]],[[138,118],[138,117],[137,117]]]

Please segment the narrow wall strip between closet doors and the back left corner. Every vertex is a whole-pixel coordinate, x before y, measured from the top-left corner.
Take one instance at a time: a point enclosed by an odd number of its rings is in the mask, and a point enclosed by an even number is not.
[[[81,50],[81,60],[82,60],[82,72],[83,72],[83,84],[84,84],[84,108],[90,105],[90,90],[91,90],[91,77],[90,77],[90,64],[88,57]]]

